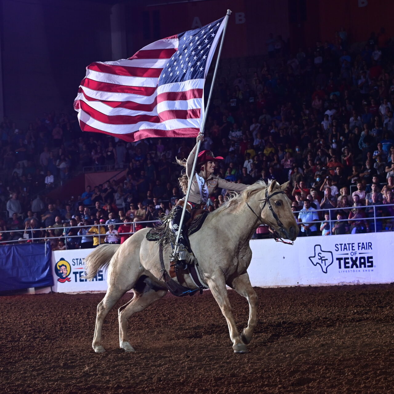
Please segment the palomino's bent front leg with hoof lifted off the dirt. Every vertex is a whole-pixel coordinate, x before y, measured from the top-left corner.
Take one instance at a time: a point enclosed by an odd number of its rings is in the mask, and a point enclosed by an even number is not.
[[[253,331],[255,331],[257,325],[257,294],[250,283],[247,273],[236,277],[232,281],[231,287],[249,302],[249,320],[247,322],[247,327],[243,329],[241,334],[243,342],[248,344],[252,340]]]

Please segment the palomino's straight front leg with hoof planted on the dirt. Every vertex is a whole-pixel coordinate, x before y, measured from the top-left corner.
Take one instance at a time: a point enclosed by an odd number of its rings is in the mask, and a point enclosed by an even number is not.
[[[247,353],[247,347],[240,338],[240,333],[238,332],[234,321],[234,316],[232,315],[232,307],[230,305],[229,296],[227,295],[226,282],[223,273],[217,273],[217,275],[213,275],[211,279],[207,281],[207,284],[212,292],[212,295],[216,299],[223,316],[227,320],[234,353]]]

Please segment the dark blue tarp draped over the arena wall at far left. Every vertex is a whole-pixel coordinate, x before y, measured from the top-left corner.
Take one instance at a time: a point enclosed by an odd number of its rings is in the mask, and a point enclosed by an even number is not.
[[[52,286],[49,243],[0,246],[0,291]]]

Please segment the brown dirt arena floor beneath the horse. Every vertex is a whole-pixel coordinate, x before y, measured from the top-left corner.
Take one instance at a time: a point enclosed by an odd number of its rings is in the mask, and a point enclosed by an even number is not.
[[[103,294],[1,296],[0,393],[392,393],[394,285],[256,288],[249,353],[232,352],[210,292],[165,296],[129,320],[136,353],[91,348]],[[127,294],[117,307],[132,294]],[[246,300],[230,291],[238,327]]]

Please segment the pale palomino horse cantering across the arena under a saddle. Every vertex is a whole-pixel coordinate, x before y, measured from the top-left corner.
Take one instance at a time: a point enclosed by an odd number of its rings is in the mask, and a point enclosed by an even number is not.
[[[257,324],[257,295],[249,281],[247,268],[252,258],[249,240],[258,225],[268,225],[277,236],[295,240],[298,235],[290,200],[284,194],[288,182],[258,181],[248,186],[216,211],[210,213],[201,229],[190,236],[193,253],[198,260],[201,279],[210,288],[229,326],[232,348],[246,353]],[[122,245],[100,245],[85,259],[86,278],[92,279],[100,268],[108,267],[108,290],[97,306],[93,349],[104,351],[101,331],[104,319],[115,303],[128,290],[134,296],[119,308],[119,344],[125,351],[134,351],[127,334],[127,321],[134,313],[144,310],[167,293],[160,272],[158,244],[145,236],[149,229],[141,229]],[[171,249],[165,247],[164,261],[169,261]],[[247,327],[238,332],[226,284],[249,302]],[[187,282],[190,288],[196,288]]]

